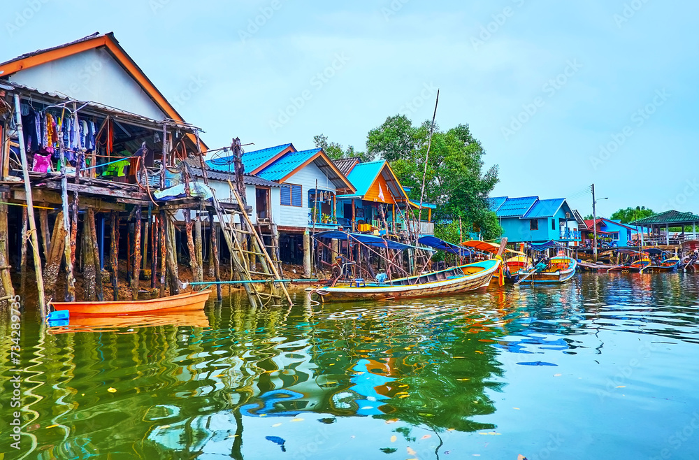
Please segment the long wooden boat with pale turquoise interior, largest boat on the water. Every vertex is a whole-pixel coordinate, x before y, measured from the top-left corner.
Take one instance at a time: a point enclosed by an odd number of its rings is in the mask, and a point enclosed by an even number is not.
[[[487,287],[499,267],[499,259],[490,259],[384,283],[355,281],[351,285],[312,289],[311,292],[319,294],[323,301],[411,299],[461,294]]]

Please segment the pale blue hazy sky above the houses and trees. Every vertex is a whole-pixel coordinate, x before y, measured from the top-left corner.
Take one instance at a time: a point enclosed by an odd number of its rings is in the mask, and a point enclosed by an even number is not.
[[[388,115],[430,117],[439,87],[438,123],[470,124],[487,165],[500,165],[496,195],[570,197],[595,182],[610,197],[601,214],[699,213],[696,2],[34,0],[6,10],[1,60],[113,31],[210,147],[240,136],[310,148],[324,133],[363,149]],[[614,152],[600,154],[608,143]],[[591,198],[571,206],[589,213]]]

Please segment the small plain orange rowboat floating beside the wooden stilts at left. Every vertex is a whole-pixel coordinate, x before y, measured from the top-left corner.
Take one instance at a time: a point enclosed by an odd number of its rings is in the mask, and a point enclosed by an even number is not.
[[[185,292],[162,299],[142,301],[105,302],[52,302],[55,310],[69,310],[71,317],[78,315],[129,315],[145,312],[185,312],[201,310],[211,294],[210,289],[199,292]]]

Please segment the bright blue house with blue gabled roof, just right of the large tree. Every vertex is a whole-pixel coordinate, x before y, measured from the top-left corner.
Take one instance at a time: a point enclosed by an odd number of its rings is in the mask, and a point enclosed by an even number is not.
[[[570,246],[580,242],[575,215],[564,198],[539,199],[538,196],[490,199],[490,209],[498,217],[502,236],[510,243],[544,243],[554,240]]]

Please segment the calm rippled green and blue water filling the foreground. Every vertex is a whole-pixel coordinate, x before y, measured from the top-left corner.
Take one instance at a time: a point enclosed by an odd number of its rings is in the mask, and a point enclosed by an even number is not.
[[[29,459],[698,459],[699,277],[22,324]],[[664,456],[664,457],[663,457]],[[0,454],[0,459],[3,456]]]

